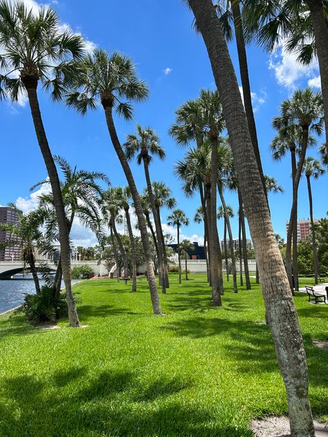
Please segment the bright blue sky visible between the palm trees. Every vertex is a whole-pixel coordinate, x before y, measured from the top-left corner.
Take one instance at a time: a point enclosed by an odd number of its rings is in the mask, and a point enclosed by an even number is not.
[[[26,0],[26,3],[33,6],[37,2]],[[203,227],[192,221],[199,198],[186,199],[173,174],[174,162],[183,156],[184,150],[167,135],[179,105],[197,97],[201,88],[215,86],[203,41],[192,29],[192,15],[182,0],[127,0],[124,3],[99,0],[93,2],[92,7],[86,4],[78,0],[58,0],[53,1],[51,6],[59,12],[63,24],[68,24],[91,41],[89,45],[93,43],[109,52],[119,50],[136,63],[138,76],[149,86],[150,97],[147,102],[135,106],[135,117],[131,122],[116,119],[118,136],[123,142],[127,133],[136,129],[136,122],[156,130],[167,158],[164,162],[152,162],[152,178],[172,187],[179,208],[190,218],[190,225],[183,229],[183,235],[192,241],[201,241]],[[230,53],[237,71],[234,42],[230,44]],[[318,68],[316,63],[309,68],[299,66],[293,56],[284,53],[284,50],[268,55],[256,46],[248,47],[248,63],[264,171],[277,178],[285,189],[284,194],[270,196],[273,227],[275,232],[285,236],[285,223],[291,207],[290,159],[286,156],[281,162],[273,162],[271,158],[268,149],[274,136],[271,120],[278,114],[280,102],[288,98],[293,89],[304,88],[308,84],[318,86]],[[237,77],[239,80],[238,72]],[[40,106],[53,154],[64,156],[80,168],[105,172],[113,186],[126,184],[101,109],[82,118],[67,109],[64,103],[53,104],[42,92]],[[36,198],[30,197],[29,187],[46,176],[30,111],[24,100],[21,105],[2,102],[0,116],[0,205],[19,199],[18,205],[28,210],[35,205]],[[310,150],[309,154],[316,156],[316,150]],[[143,189],[142,168],[136,164],[131,167],[138,187]],[[309,216],[305,182],[303,178],[300,183],[299,218]],[[327,182],[325,175],[312,183],[316,218],[324,217],[327,212]],[[237,211],[237,196],[227,192],[226,198]],[[163,210],[163,221],[167,214]],[[233,219],[232,225],[233,234],[237,236],[237,218]],[[169,227],[165,229],[172,231]],[[223,223],[219,223],[220,234],[222,229]],[[91,233],[78,224],[72,237],[76,244],[95,243]]]

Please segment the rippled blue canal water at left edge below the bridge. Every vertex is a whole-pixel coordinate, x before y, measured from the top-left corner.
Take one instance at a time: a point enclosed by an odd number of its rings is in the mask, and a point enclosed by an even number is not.
[[[0,314],[21,305],[26,294],[35,293],[34,281],[30,279],[30,275],[25,275],[24,278],[21,275],[15,275],[15,278],[17,279],[0,281]],[[73,279],[72,283],[78,281],[78,279]],[[40,279],[40,285],[43,283],[44,281]]]

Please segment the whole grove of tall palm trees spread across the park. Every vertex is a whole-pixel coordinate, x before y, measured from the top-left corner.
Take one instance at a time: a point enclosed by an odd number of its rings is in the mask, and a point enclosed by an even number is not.
[[[218,2],[216,6],[213,6],[212,0],[188,0],[186,3],[194,13],[195,27],[206,44],[217,91],[202,90],[197,99],[183,104],[176,111],[176,123],[170,133],[179,145],[190,145],[191,142],[195,144],[185,158],[176,164],[176,174],[183,180],[186,194],[191,196],[194,192],[199,192],[201,198],[201,210],[197,212],[197,220],[199,217],[203,219],[204,235],[208,243],[213,304],[221,305],[223,293],[222,254],[217,232],[217,194],[230,236],[230,213],[224,193],[225,189],[235,189],[239,198],[240,239],[246,239],[246,216],[255,245],[266,317],[289,398],[291,431],[294,436],[314,436],[307,394],[307,363],[291,295],[291,272],[295,275],[297,271],[295,253],[293,270],[291,268],[291,250],[293,247],[294,251],[297,246],[295,243],[292,245],[292,241],[293,235],[295,239],[300,176],[304,171],[309,183],[312,176],[320,174],[318,165],[313,160],[306,161],[307,147],[313,142],[309,133],[313,131],[320,134],[326,120],[326,138],[328,134],[327,6],[321,0],[284,0],[271,3],[262,0],[246,0],[241,3],[233,0],[224,5]],[[244,103],[227,46],[227,40],[233,35],[231,24],[235,28]],[[289,101],[283,102],[280,116],[274,120],[279,138],[274,140],[273,150],[280,150],[280,145],[284,145],[286,150],[290,149],[292,160],[293,204],[287,234],[287,273],[273,233],[266,178],[259,155],[245,46],[246,41],[251,38],[270,50],[283,39],[286,47],[295,50],[302,62],[309,62],[316,53],[320,66],[322,94],[313,93],[311,90],[295,92]],[[76,201],[74,195],[71,198],[71,189],[65,192],[60,184],[39,108],[39,85],[51,94],[53,100],[65,100],[66,104],[82,115],[89,109],[103,109],[111,142],[129,185],[129,189],[109,189],[104,194],[107,218],[113,237],[116,236],[118,241],[115,230],[117,214],[120,210],[128,213],[129,202],[133,202],[147,264],[153,311],[154,314],[161,314],[147,223],[149,226],[149,214],[152,212],[155,231],[151,232],[156,236],[161,286],[165,292],[169,283],[165,241],[161,229],[161,204],[156,203],[154,183],[151,183],[149,176],[152,156],[164,158],[165,152],[159,145],[156,133],[150,128],[143,129],[140,126],[122,145],[115,124],[115,115],[131,120],[132,104],[147,99],[149,91],[145,82],[138,79],[129,57],[120,53],[109,55],[101,48],[86,53],[82,37],[70,30],[63,31],[59,17],[51,8],[40,8],[35,13],[28,10],[22,2],[12,4],[6,0],[1,1],[0,45],[0,96],[15,101],[21,93],[27,95],[39,148],[48,172],[52,194],[44,199],[44,204],[55,214],[56,227],[50,226],[49,232],[57,229],[57,239],[60,241],[60,268],[66,287],[71,326],[80,326],[80,322],[71,292],[70,223],[74,216],[79,216],[90,226],[91,222],[89,223],[89,212],[80,210],[80,205],[84,205],[84,202]],[[225,131],[228,138],[223,136]],[[326,141],[322,147],[325,158],[327,147]],[[295,152],[298,150],[297,162]],[[280,151],[277,154],[279,156]],[[129,159],[135,155],[145,169],[147,201],[138,193],[129,167]],[[62,169],[66,166],[64,161],[58,163]],[[75,177],[72,174],[73,176]],[[93,180],[99,176],[94,175]],[[102,177],[104,175],[100,176]],[[272,187],[272,180],[270,186]],[[309,184],[311,203],[310,188]],[[95,187],[92,189],[97,192]],[[76,196],[80,194],[77,192]],[[116,203],[117,198],[120,198],[119,205]],[[116,201],[113,202],[113,199]],[[92,207],[91,215],[93,218],[98,217]],[[178,233],[180,226],[188,222],[181,210],[172,212],[169,221],[176,225]],[[118,245],[120,246],[119,242]],[[313,250],[315,245],[313,237]],[[178,252],[180,260],[180,245]],[[231,258],[233,259],[233,254]],[[247,262],[244,263],[245,269],[246,266]],[[124,270],[127,272],[127,269]],[[248,274],[245,273],[246,286],[250,288]],[[233,283],[237,291],[235,261]]]

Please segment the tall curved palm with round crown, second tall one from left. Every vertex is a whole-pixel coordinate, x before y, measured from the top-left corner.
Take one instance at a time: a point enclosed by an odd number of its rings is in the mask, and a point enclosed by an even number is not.
[[[133,115],[131,102],[142,102],[145,100],[148,96],[147,86],[144,82],[138,80],[135,66],[131,59],[120,55],[120,53],[113,53],[109,56],[106,51],[96,48],[92,54],[82,59],[78,67],[82,69],[82,73],[75,77],[76,89],[69,93],[67,104],[73,106],[82,114],[85,114],[88,109],[98,108],[99,103],[104,109],[109,136],[127,178],[138,217],[153,311],[154,314],[161,314],[161,304],[152,266],[143,207],[140,203],[134,176],[118,139],[113,120],[113,111],[116,111],[118,115],[122,115],[125,120],[131,120]],[[127,102],[124,101],[125,99]]]

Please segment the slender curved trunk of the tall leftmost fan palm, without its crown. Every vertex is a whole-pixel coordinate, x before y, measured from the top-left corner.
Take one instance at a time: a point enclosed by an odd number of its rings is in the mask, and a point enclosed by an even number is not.
[[[39,147],[44,158],[44,163],[48,171],[51,189],[53,192],[53,203],[57,217],[60,239],[60,258],[62,262],[67,306],[69,309],[69,324],[72,327],[78,327],[80,326],[80,321],[71,288],[71,250],[64,202],[62,199],[62,191],[60,189],[60,179],[58,178],[57,169],[53,160],[53,156],[51,155],[48,139],[46,138],[46,131],[44,130],[44,124],[42,122],[42,115],[39,109],[39,101],[37,98],[37,80],[33,77],[24,77],[21,78],[21,80],[26,87],[35,133],[37,134],[37,141],[39,142]]]

